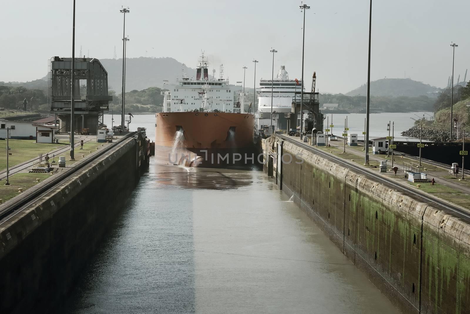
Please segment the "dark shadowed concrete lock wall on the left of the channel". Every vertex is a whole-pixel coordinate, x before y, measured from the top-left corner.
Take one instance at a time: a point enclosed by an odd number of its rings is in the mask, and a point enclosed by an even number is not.
[[[48,309],[73,287],[135,187],[138,142],[126,140],[0,225],[0,313]]]

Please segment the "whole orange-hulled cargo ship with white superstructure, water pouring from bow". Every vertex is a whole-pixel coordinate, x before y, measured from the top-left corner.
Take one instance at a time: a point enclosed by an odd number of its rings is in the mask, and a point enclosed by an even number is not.
[[[208,60],[199,57],[196,79],[184,71],[163,91],[163,112],[155,115],[155,156],[159,163],[225,167],[251,163],[255,116],[245,112],[241,86],[209,79]],[[215,71],[213,71],[215,76]],[[235,93],[238,101],[235,102]]]

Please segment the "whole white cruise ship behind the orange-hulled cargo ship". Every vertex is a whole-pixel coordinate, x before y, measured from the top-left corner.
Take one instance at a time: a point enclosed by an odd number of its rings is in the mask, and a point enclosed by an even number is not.
[[[256,89],[258,112],[255,115],[258,129],[268,126],[271,121],[271,88],[274,129],[287,129],[287,118],[284,117],[284,113],[291,111],[295,92],[300,92],[301,86],[302,81],[289,79],[285,65],[281,66],[274,80],[260,79],[259,87]],[[297,95],[297,98],[300,99],[300,95]]]

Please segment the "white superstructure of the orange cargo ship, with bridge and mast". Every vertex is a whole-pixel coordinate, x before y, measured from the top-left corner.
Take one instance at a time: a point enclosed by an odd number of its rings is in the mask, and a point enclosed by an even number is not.
[[[204,53],[199,57],[196,67],[196,78],[188,78],[182,73],[175,83],[168,84],[164,95],[163,112],[237,112],[240,106],[234,101],[234,91],[241,86],[230,85],[228,79],[209,79],[209,63]],[[222,71],[221,71],[222,73]]]

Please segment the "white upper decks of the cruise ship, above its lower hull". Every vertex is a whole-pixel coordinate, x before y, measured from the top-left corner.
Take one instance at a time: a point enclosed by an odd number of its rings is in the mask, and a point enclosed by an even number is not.
[[[256,89],[258,112],[271,114],[271,88],[273,88],[273,111],[276,113],[290,112],[295,92],[300,92],[301,84],[301,81],[289,79],[286,67],[282,65],[274,80],[261,79],[259,81],[259,87]],[[298,99],[300,99],[300,95],[298,95]]]

